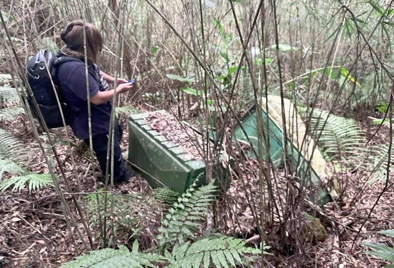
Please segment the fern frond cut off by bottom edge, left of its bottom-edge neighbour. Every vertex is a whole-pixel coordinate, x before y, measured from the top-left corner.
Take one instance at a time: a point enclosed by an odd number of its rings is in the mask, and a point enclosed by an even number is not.
[[[138,244],[136,246],[138,248]],[[133,251],[130,252],[125,246],[119,245],[119,249],[104,248],[89,252],[82,256],[76,257],[61,268],[156,268],[155,264],[163,263],[165,258],[156,254],[143,254],[135,251],[135,242]]]

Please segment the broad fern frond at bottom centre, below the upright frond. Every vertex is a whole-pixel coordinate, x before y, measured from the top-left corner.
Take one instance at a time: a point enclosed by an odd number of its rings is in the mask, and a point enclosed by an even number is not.
[[[236,264],[247,265],[246,254],[261,254],[262,250],[245,246],[246,241],[234,237],[215,237],[197,240],[193,244],[184,243],[172,251],[173,258],[168,268],[199,268],[204,267],[228,268]],[[269,254],[265,250],[264,254]]]

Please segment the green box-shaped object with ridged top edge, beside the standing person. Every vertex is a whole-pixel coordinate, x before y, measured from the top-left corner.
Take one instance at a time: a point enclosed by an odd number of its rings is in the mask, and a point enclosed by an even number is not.
[[[181,146],[149,127],[145,118],[157,112],[171,117],[164,110],[129,117],[129,161],[153,188],[166,186],[184,193],[196,177],[205,172],[205,163],[191,159]],[[219,165],[215,166],[214,172],[219,174],[219,169]],[[205,183],[205,176],[199,183]]]

